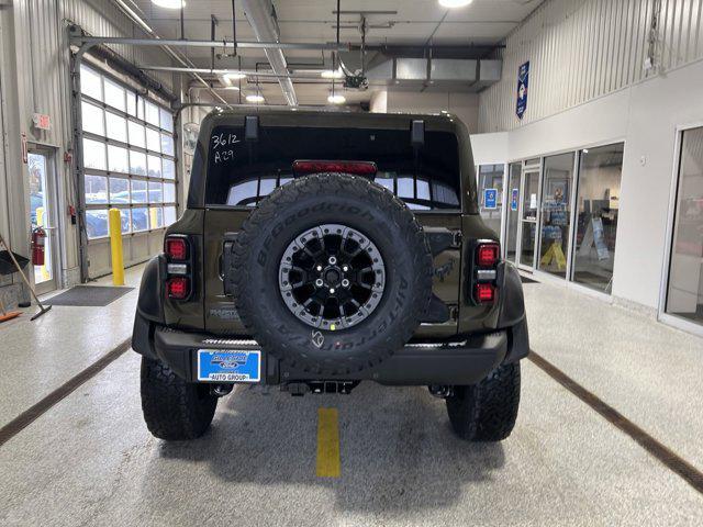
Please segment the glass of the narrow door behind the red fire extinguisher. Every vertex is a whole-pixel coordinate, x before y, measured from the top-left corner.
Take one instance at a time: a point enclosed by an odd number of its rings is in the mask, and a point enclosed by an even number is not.
[[[48,150],[27,154],[30,171],[30,222],[32,229],[42,227],[46,233],[44,265],[34,266],[34,285],[37,294],[47,293],[57,287],[56,273],[56,188],[53,156]]]

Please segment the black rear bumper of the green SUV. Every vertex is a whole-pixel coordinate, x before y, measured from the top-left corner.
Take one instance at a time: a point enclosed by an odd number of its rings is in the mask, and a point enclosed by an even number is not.
[[[259,349],[254,340],[230,339],[201,333],[186,333],[135,321],[133,347],[158,358],[187,381],[197,380],[198,349]],[[526,324],[525,324],[526,335]],[[450,344],[409,344],[380,366],[349,377],[319,377],[290,368],[275,357],[263,354],[261,382],[281,384],[297,381],[371,380],[392,385],[475,384],[504,361],[524,356],[520,332],[503,329],[475,335]],[[525,351],[526,352],[526,351]]]

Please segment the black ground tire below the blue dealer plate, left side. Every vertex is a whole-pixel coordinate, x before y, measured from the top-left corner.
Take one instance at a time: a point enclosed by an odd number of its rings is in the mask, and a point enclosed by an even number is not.
[[[168,366],[147,357],[142,357],[141,391],[146,427],[159,439],[202,436],[217,406],[208,384],[186,382]]]

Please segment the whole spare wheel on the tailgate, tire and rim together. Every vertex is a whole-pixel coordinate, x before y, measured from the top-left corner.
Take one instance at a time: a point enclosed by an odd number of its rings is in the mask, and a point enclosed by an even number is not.
[[[429,246],[413,213],[361,177],[279,187],[234,247],[234,296],[261,349],[293,369],[349,375],[412,337],[432,295]]]

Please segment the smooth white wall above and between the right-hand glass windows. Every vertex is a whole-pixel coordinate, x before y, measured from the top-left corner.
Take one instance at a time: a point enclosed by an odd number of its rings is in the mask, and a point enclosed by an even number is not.
[[[472,136],[477,164],[625,143],[613,295],[659,303],[677,127],[703,124],[703,61],[517,130]]]

